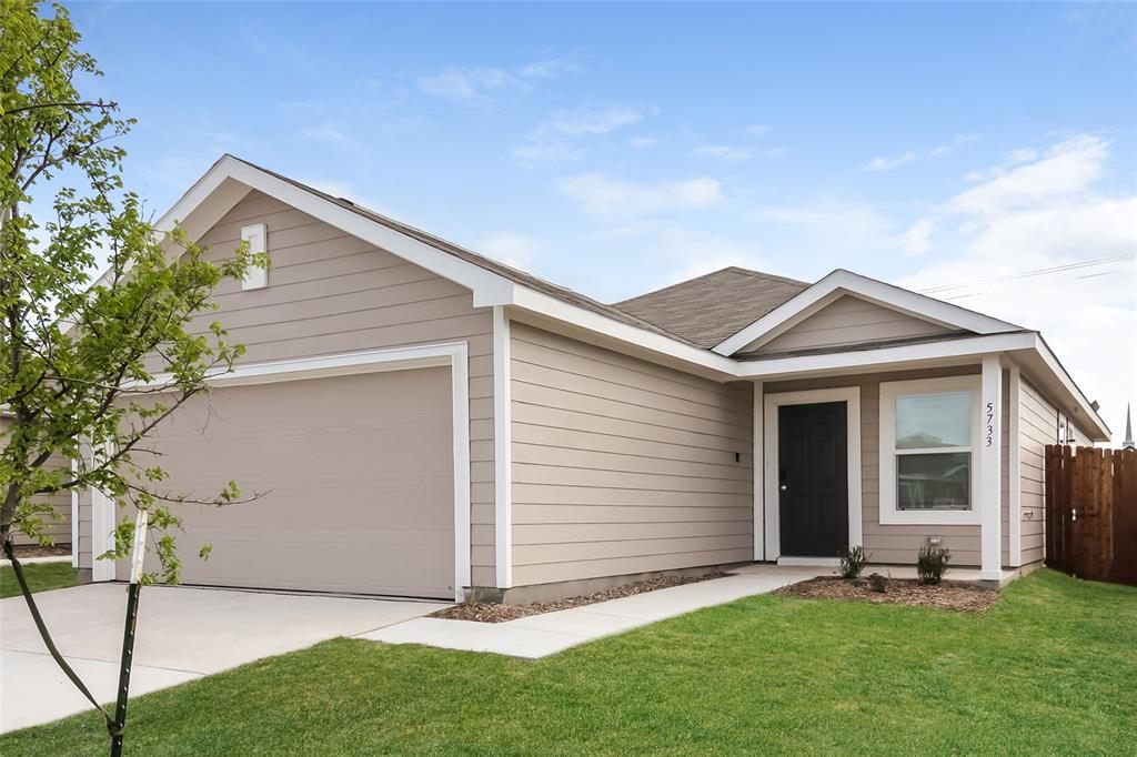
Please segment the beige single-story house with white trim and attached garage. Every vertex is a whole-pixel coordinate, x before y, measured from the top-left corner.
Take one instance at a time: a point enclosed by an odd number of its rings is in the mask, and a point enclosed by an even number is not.
[[[273,260],[156,440],[171,490],[263,494],[182,508],[186,583],[526,601],[928,543],[998,580],[1043,558],[1043,447],[1109,438],[1039,333],[848,271],[603,303],[231,156],[175,219]],[[96,581],[116,517],[78,498]]]

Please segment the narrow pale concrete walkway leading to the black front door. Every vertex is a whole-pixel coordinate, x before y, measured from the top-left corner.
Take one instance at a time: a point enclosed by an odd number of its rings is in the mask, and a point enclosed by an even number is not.
[[[359,638],[391,644],[425,644],[537,659],[691,610],[764,594],[829,572],[827,568],[753,565],[724,579],[532,615],[507,623],[418,617],[359,634]]]

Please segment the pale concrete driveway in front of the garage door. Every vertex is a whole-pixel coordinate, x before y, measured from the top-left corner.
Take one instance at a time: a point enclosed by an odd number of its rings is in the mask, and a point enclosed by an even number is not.
[[[56,646],[100,701],[113,701],[126,612],[124,584],[36,594]],[[262,657],[354,637],[443,604],[147,587],[131,693],[199,679]],[[23,597],[0,600],[0,732],[90,709],[48,655]]]

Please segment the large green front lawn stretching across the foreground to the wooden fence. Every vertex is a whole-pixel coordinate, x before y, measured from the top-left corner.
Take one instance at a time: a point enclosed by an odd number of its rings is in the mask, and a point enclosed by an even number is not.
[[[981,615],[754,597],[538,662],[337,640],[140,698],[133,755],[1119,754],[1137,589],[1040,571]],[[0,754],[96,755],[85,714]],[[1129,747],[1124,747],[1124,744]]]

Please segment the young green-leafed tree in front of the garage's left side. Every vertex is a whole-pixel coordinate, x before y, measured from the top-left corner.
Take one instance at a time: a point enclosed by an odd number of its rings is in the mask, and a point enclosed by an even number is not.
[[[160,569],[142,582],[176,582],[176,504],[189,500],[163,489],[146,440],[241,356],[206,314],[222,280],[267,260],[242,247],[211,263],[181,230],[156,234],[121,177],[117,142],[133,120],[115,102],[80,94],[100,72],[77,49],[67,11],[0,3],[0,406],[10,414],[0,435],[0,542],[8,557],[16,531],[50,542],[42,498],[93,488],[128,510],[99,559],[126,556],[135,523],[148,521]],[[73,468],[49,466],[57,455]],[[239,497],[230,482],[193,501]],[[41,633],[53,650],[42,623]]]

